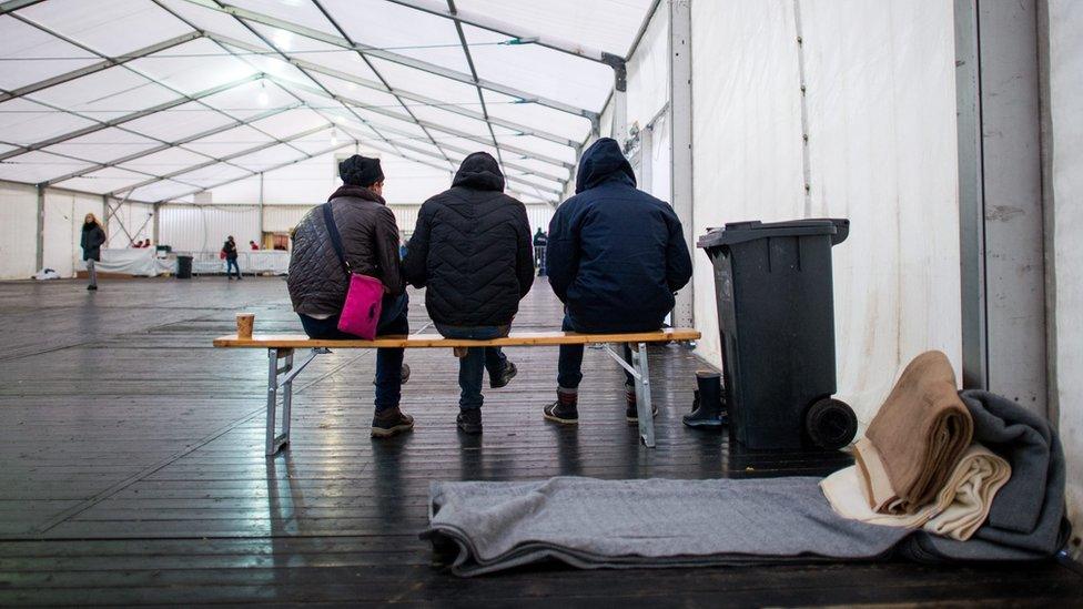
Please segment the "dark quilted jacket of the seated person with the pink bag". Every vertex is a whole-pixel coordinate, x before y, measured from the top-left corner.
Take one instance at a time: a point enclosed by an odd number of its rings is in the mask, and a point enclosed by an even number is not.
[[[376,277],[389,294],[402,294],[398,226],[384,200],[368,189],[342,186],[331,195],[331,210],[350,268]],[[346,302],[350,277],[331,243],[322,206],[313,207],[297,224],[286,284],[297,313],[336,315]]]

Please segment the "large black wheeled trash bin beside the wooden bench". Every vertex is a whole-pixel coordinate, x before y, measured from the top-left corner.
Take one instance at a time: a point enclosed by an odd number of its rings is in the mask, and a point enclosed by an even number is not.
[[[699,238],[715,264],[722,383],[738,441],[838,449],[857,417],[836,392],[831,247],[849,220],[737,222]]]

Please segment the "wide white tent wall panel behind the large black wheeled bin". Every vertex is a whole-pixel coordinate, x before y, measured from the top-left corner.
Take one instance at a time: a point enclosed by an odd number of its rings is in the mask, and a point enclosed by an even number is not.
[[[833,252],[837,361],[863,424],[914,355],[960,365],[952,23],[950,2],[692,3],[695,233],[851,220]],[[720,364],[712,267],[694,258],[699,351]]]

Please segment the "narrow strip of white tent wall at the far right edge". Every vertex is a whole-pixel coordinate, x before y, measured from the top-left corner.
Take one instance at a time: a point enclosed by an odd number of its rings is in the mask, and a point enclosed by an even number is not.
[[[1049,3],[1055,396],[1075,552],[1083,530],[1083,3]],[[1050,253],[1046,252],[1046,257]]]

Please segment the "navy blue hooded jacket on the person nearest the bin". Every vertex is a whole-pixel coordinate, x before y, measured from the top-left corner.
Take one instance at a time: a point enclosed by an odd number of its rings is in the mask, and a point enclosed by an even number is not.
[[[576,195],[549,223],[546,265],[573,327],[595,333],[658,329],[692,274],[677,214],[636,189],[609,138],[583,153]]]

